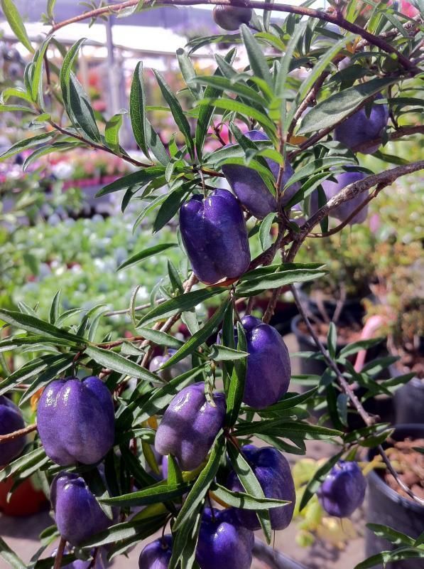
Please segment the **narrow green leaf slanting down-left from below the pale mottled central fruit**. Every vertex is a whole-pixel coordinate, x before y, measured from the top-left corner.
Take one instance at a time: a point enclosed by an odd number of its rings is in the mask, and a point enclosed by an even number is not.
[[[183,507],[180,509],[180,513],[173,526],[173,531],[178,531],[178,528],[195,513],[197,506],[199,506],[204,499],[210,484],[212,484],[218,472],[219,463],[224,456],[224,452],[225,439],[223,435],[219,435],[214,443],[205,468],[200,472],[195,484],[193,484],[190,493],[184,501]]]

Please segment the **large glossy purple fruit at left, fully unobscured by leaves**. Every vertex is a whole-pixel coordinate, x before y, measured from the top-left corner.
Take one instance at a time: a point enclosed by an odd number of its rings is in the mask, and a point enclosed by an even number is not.
[[[94,376],[52,381],[38,403],[38,434],[61,466],[102,459],[114,444],[114,420],[112,395]]]

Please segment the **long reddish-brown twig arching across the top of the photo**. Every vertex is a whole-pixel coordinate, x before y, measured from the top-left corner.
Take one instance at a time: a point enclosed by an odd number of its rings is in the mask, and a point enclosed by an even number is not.
[[[103,6],[102,8],[97,8],[85,12],[85,14],[80,14],[79,16],[74,16],[62,22],[56,23],[51,31],[56,31],[70,23],[77,21],[86,20],[88,18],[97,18],[98,16],[117,14],[120,11],[129,8],[131,6],[136,6],[139,4],[139,0],[128,0],[126,2],[121,2],[120,4],[109,4],[109,6]],[[366,31],[361,26],[349,22],[342,18],[341,16],[330,14],[330,12],[315,10],[312,8],[305,8],[305,6],[293,6],[291,4],[270,4],[268,1],[249,1],[249,0],[148,0],[145,2],[143,8],[151,8],[151,6],[199,6],[201,4],[210,4],[217,6],[239,6],[241,8],[254,8],[259,10],[272,10],[278,12],[286,12],[288,14],[299,14],[300,16],[309,16],[310,18],[317,18],[328,23],[333,23],[346,31],[356,33],[361,36],[364,40],[370,43],[372,46],[376,46],[386,53],[393,53],[396,55],[399,63],[407,70],[413,71],[415,73],[416,68],[413,62],[400,53],[396,48],[387,43],[383,38],[379,36],[374,36],[369,31]]]

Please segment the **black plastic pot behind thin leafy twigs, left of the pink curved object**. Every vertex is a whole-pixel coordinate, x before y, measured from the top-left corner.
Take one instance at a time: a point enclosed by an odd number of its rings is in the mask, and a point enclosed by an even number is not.
[[[309,334],[304,334],[303,331],[299,328],[299,323],[302,320],[302,317],[299,315],[291,321],[291,331],[295,334],[296,339],[298,340],[299,350],[300,351],[313,351],[317,352],[317,346],[315,341]],[[324,344],[327,347],[326,344]],[[337,349],[342,349],[347,344],[337,344]],[[386,355],[386,347],[384,343],[378,344],[373,348],[369,349],[366,353],[366,363],[372,361],[373,359],[379,358],[381,356]],[[352,361],[353,363],[353,361]],[[325,369],[327,368],[326,364],[321,360],[316,360],[314,358],[300,358],[300,373],[307,376],[322,376]],[[310,385],[308,385],[308,389],[310,389]],[[365,390],[364,388],[357,388],[355,393],[359,398],[364,395]],[[393,423],[394,420],[394,408],[393,408],[393,398],[388,397],[387,395],[377,395],[376,397],[369,398],[364,402],[364,408],[368,413],[372,415],[379,415],[382,421],[384,422],[391,422]],[[364,424],[362,419],[359,418],[358,415],[349,414],[348,418],[349,429],[359,429],[363,427]]]

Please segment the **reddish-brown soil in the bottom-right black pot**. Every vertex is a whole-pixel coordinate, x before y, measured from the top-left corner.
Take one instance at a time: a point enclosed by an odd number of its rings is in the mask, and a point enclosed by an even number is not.
[[[414,450],[414,447],[424,447],[424,439],[406,439],[401,442],[393,442],[393,447],[386,450],[391,463],[402,480],[415,496],[424,499],[424,454]],[[412,500],[406,491],[401,489],[394,477],[389,472],[384,472],[384,481],[392,490],[401,494],[404,498]]]

